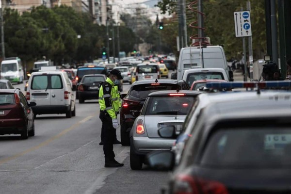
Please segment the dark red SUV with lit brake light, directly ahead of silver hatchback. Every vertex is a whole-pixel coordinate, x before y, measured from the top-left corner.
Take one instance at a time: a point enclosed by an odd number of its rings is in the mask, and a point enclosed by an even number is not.
[[[149,93],[160,90],[189,90],[189,86],[182,80],[144,80],[135,81],[129,88],[128,94],[123,98],[120,110],[120,136],[121,144],[129,146],[129,131],[136,116],[135,111],[140,111]]]

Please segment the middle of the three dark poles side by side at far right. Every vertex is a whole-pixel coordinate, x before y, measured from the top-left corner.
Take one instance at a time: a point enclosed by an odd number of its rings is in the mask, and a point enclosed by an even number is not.
[[[272,61],[278,64],[276,3],[271,0]]]

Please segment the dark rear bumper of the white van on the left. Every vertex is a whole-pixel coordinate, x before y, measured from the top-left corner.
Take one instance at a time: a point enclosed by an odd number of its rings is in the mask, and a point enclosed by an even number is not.
[[[70,105],[33,106],[34,114],[61,114],[70,110]]]

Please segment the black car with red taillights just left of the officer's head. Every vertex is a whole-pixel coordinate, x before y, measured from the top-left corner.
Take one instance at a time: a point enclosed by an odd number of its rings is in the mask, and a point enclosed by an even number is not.
[[[83,76],[79,84],[79,103],[84,103],[87,99],[98,99],[99,88],[106,80],[106,76],[102,74],[92,74]]]

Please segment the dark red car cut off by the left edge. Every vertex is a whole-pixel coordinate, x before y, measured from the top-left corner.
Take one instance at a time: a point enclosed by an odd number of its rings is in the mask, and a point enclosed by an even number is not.
[[[18,89],[0,89],[0,135],[20,134],[22,139],[34,136],[32,106]]]

